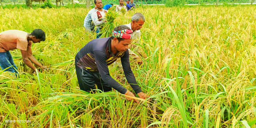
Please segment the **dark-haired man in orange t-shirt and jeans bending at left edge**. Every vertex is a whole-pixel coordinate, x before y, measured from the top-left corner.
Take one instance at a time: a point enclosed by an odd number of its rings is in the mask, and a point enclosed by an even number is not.
[[[17,73],[17,67],[14,64],[10,50],[20,49],[24,63],[35,71],[35,66],[31,61],[40,68],[47,68],[40,64],[32,55],[32,42],[40,43],[45,41],[45,32],[42,29],[34,29],[33,32],[27,33],[20,30],[7,30],[0,33],[0,66],[5,71]],[[10,68],[9,68],[10,67]],[[7,68],[7,69],[6,69]],[[15,69],[16,68],[16,69]],[[15,74],[16,75],[16,74]]]

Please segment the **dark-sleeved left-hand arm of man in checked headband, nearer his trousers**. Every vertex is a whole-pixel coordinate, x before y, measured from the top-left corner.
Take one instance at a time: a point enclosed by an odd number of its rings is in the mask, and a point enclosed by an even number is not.
[[[118,92],[125,94],[127,92],[127,89],[121,86],[116,80],[114,80],[110,74],[108,65],[106,62],[106,53],[103,51],[94,51],[94,57],[96,61],[96,65],[99,71],[99,74],[101,75],[102,80],[108,84],[110,87],[116,89]]]

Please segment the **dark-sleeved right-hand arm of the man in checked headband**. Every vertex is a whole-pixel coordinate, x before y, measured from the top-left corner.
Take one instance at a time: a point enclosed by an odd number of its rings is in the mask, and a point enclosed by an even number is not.
[[[129,60],[129,51],[124,52],[124,56],[121,57],[121,63],[124,69],[124,75],[128,81],[128,83],[131,85],[132,89],[135,91],[136,94],[142,92],[140,89],[135,76],[132,72],[131,66],[130,66],[130,60]]]

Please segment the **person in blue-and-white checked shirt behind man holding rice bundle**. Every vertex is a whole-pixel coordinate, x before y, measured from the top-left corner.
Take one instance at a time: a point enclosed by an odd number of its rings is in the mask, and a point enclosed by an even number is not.
[[[92,23],[93,20],[91,17],[96,8],[97,7],[95,6],[93,9],[91,9],[88,12],[88,14],[86,15],[86,17],[84,18],[83,26],[84,26],[85,30],[88,32],[94,31],[95,25]]]

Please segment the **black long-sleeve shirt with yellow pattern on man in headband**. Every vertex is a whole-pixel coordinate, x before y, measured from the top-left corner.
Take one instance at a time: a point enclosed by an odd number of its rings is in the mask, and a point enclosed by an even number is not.
[[[142,92],[136,82],[130,66],[129,51],[117,52],[116,56],[114,56],[111,51],[111,37],[94,39],[87,43],[76,54],[75,63],[80,68],[87,69],[91,72],[99,72],[102,80],[106,84],[116,89],[118,92],[125,94],[127,89],[121,86],[110,76],[108,69],[108,65],[114,63],[114,61],[116,61],[119,57],[121,57],[124,75],[128,83],[131,85],[135,93]]]

